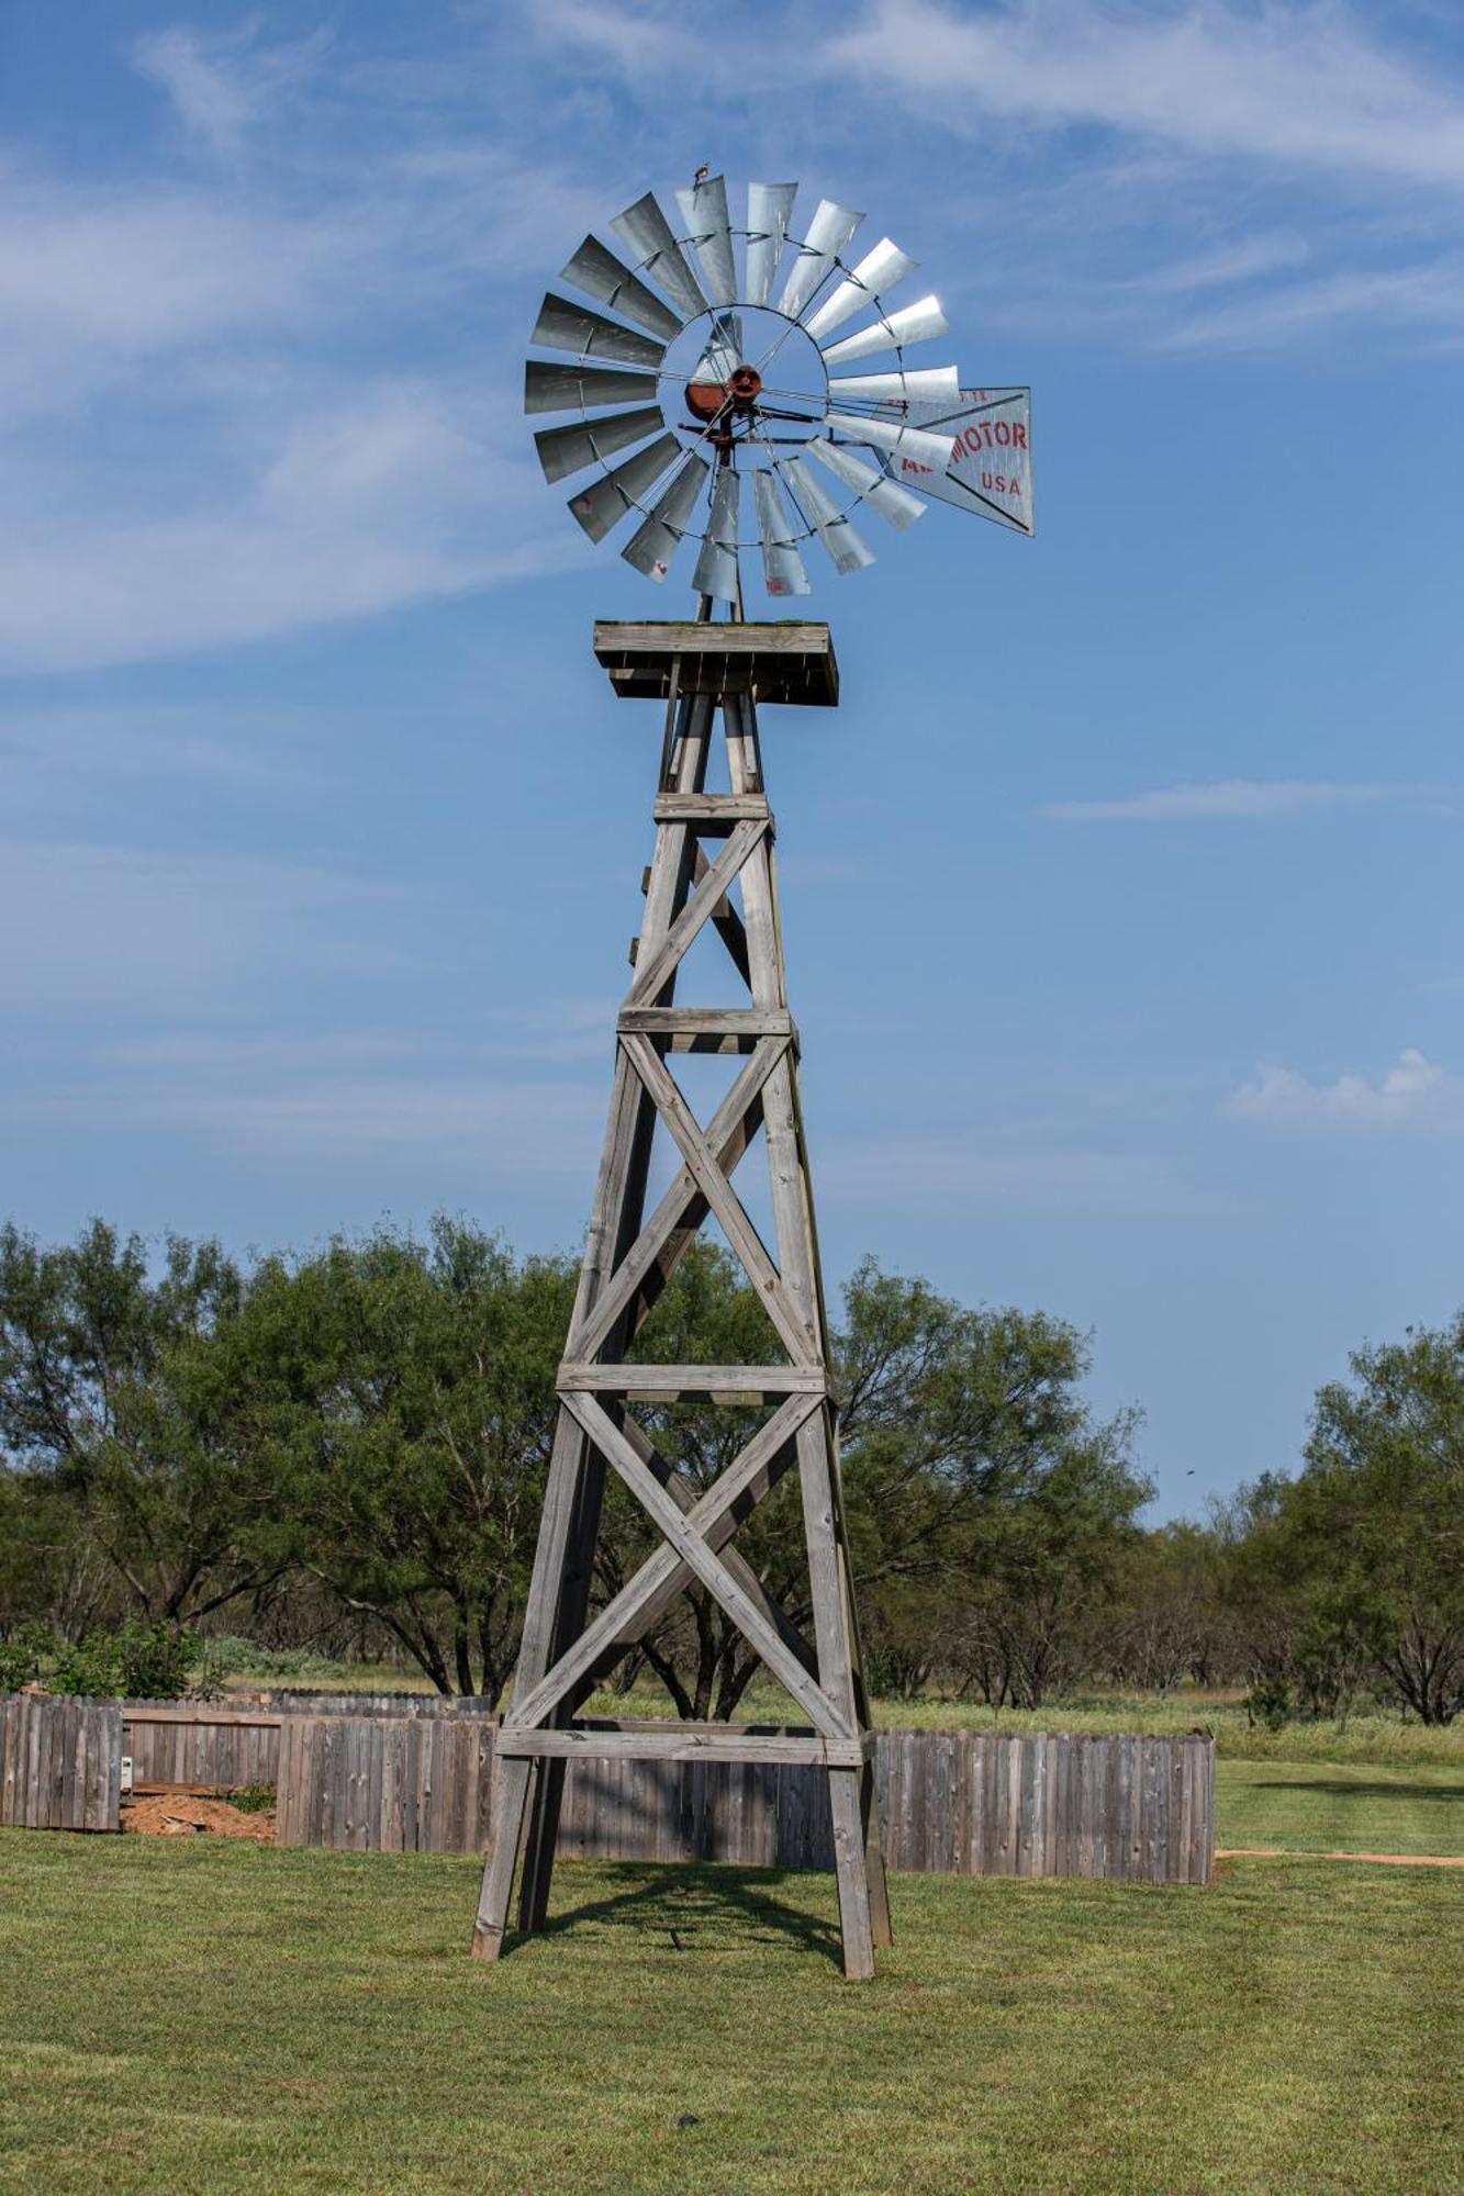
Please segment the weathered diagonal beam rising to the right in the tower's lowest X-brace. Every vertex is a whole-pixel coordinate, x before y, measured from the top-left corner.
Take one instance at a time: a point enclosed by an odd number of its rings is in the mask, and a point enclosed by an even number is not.
[[[780,1467],[791,1460],[789,1449],[798,1427],[809,1412],[818,1408],[816,1397],[789,1394],[772,1419],[758,1427],[747,1447],[739,1452],[734,1463],[730,1463],[714,1484],[708,1487],[708,1491],[686,1511],[686,1524],[690,1531],[701,1533],[714,1553],[723,1548],[736,1531],[739,1506],[745,1504],[752,1509],[763,1500],[767,1489],[776,1484]],[[642,1443],[644,1447],[651,1447],[648,1436],[633,1425],[633,1421],[626,1423],[624,1434],[635,1449],[642,1449]],[[644,1458],[644,1463],[648,1469],[651,1458]],[[690,1566],[681,1561],[675,1548],[662,1542],[662,1546],[646,1557],[640,1570],[626,1579],[613,1601],[600,1610],[596,1621],[580,1632],[574,1647],[561,1656],[554,1669],[550,1669],[543,1680],[523,1695],[523,1700],[514,1700],[514,1724],[541,1724],[547,1715],[552,1715],[561,1700],[565,1700],[580,1678],[587,1678],[594,1667],[611,1654],[611,1649],[631,1647],[637,1638],[642,1638],[670,1607],[675,1596],[688,1586],[690,1577]],[[807,1643],[802,1645],[807,1654]]]

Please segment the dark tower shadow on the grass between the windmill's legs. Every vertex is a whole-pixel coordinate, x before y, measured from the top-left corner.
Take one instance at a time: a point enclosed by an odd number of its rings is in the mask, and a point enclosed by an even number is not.
[[[646,1880],[646,1862],[633,1862],[611,1873],[613,1889],[605,1897],[585,1900],[569,1913],[550,1915],[543,1926],[545,1937],[569,1937],[609,1922],[633,1928],[637,1935],[662,1937],[670,1952],[719,1952],[728,1950],[728,1930],[745,1941],[767,1941],[780,1937],[802,1952],[818,1952],[835,1968],[844,1968],[844,1946],[840,1930],[831,1922],[820,1922],[798,1906],[778,1900],[776,1886],[783,1875],[776,1869],[734,1869],[725,1862],[714,1869],[657,1862],[655,1875]],[[512,1930],[503,1952],[514,1952],[530,1943],[521,1930]]]

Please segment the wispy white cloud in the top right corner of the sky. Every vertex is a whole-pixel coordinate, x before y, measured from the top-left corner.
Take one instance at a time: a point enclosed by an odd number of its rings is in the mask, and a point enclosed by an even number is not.
[[[972,134],[987,116],[1099,123],[1191,154],[1464,187],[1464,103],[1337,0],[1009,0],[978,15],[873,0],[827,61]]]

